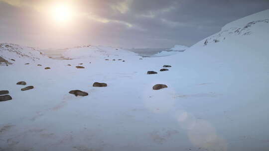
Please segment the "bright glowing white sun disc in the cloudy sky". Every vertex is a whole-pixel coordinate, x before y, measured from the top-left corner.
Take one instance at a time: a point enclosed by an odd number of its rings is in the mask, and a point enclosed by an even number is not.
[[[73,16],[71,7],[66,4],[57,4],[51,10],[53,19],[58,22],[69,21]]]

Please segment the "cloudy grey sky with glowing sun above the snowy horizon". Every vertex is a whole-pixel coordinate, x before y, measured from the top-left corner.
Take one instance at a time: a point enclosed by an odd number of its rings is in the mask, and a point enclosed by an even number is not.
[[[0,0],[0,43],[38,48],[191,46],[269,0]]]

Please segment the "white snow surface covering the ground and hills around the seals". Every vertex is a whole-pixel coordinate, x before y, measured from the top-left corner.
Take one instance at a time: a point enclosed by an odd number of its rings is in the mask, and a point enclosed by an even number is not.
[[[73,60],[1,66],[0,90],[13,99],[0,102],[0,150],[267,151],[269,23],[259,20],[268,12],[227,24],[207,45],[204,39],[173,56],[139,60],[124,50],[82,48],[64,53]],[[225,31],[253,21],[251,34]],[[9,53],[1,56],[19,59]],[[112,61],[117,57],[126,62]],[[74,67],[80,63],[85,69]],[[163,65],[172,67],[159,72]],[[17,81],[35,88],[21,91]],[[96,81],[108,87],[93,87]],[[168,88],[152,90],[158,83]],[[89,95],[68,93],[75,89]]]

